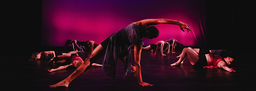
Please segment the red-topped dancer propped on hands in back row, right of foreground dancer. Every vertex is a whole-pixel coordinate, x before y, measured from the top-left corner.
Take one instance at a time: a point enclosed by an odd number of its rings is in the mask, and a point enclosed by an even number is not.
[[[170,44],[169,44],[169,42],[165,42],[165,41],[158,41],[158,42],[156,42],[155,44],[150,44],[150,45],[148,45],[147,47],[143,47],[142,48],[142,51],[147,51],[147,50],[151,50],[151,52],[153,52],[153,50],[155,49],[155,54],[156,54],[156,52],[157,52],[157,50],[160,48],[160,50],[161,50],[161,55],[162,56],[165,56],[165,54],[163,53],[163,48],[165,48],[166,47],[166,49],[168,49],[167,50],[167,54],[169,54],[170,53],[170,51],[169,51],[169,49],[170,49]],[[152,54],[152,53],[151,53]],[[154,54],[154,55],[155,55]]]

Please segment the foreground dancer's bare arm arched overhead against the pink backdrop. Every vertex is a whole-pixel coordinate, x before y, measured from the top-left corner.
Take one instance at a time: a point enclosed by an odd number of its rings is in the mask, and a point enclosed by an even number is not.
[[[172,24],[172,25],[178,25],[182,31],[184,31],[183,28],[187,29],[187,32],[192,30],[190,26],[188,26],[186,23],[176,21],[176,20],[171,20],[171,19],[145,19],[145,20],[134,22],[134,23],[136,25],[142,25],[142,26]]]

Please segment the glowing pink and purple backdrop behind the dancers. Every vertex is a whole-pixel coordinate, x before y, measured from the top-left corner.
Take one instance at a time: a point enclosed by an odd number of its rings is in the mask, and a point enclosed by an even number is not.
[[[64,46],[66,40],[101,43],[132,22],[166,18],[187,23],[159,24],[160,35],[144,45],[175,38],[185,46],[206,45],[206,0],[43,0],[42,46]]]

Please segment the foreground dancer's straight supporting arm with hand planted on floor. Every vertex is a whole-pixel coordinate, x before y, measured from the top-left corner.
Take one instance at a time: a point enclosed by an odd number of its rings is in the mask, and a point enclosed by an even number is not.
[[[142,86],[152,86],[151,84],[145,83],[142,81],[141,76],[141,68],[140,68],[140,56],[141,56],[141,49],[142,45],[135,45],[134,46],[134,60],[135,60],[135,68],[136,68],[136,75],[139,81],[139,84]]]

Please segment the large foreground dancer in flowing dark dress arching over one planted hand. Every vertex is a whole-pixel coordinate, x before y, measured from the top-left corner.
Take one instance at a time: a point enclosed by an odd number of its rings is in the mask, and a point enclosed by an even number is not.
[[[159,35],[159,31],[151,25],[157,25],[160,23],[178,25],[181,30],[183,30],[183,28],[187,29],[187,31],[191,30],[186,23],[170,19],[146,19],[131,23],[127,27],[118,31],[117,33],[110,35],[106,40],[104,40],[100,45],[98,45],[94,51],[92,51],[91,55],[89,55],[89,57],[85,59],[83,64],[79,66],[69,77],[65,78],[57,84],[50,85],[50,88],[59,86],[68,87],[69,83],[72,80],[74,80],[84,71],[88,70],[92,63],[94,63],[104,55],[105,56],[103,60],[102,69],[105,72],[107,72],[107,75],[110,77],[110,79],[115,79],[116,63],[118,61],[118,57],[125,65],[124,73],[126,75],[126,73],[130,70],[131,65],[130,48],[132,44],[134,45],[136,76],[139,85],[152,86],[151,84],[142,81],[140,66],[140,56],[143,43],[142,38],[156,38]],[[114,56],[114,60],[109,59],[110,55]]]

